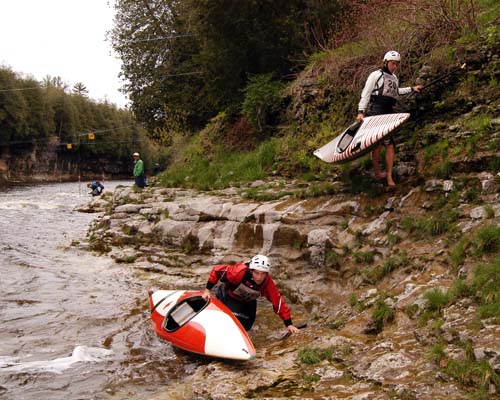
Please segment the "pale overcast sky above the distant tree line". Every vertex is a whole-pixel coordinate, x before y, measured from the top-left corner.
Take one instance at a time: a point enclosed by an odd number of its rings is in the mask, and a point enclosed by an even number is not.
[[[0,0],[0,65],[41,81],[82,82],[94,100],[122,107],[120,61],[105,40],[114,0]]]

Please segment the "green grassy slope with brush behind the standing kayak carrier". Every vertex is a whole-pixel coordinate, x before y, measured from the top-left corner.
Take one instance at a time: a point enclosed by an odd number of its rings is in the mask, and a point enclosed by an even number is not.
[[[420,11],[416,13],[412,11],[415,4],[420,4]],[[482,0],[475,3],[472,12],[467,8],[469,3],[458,9],[456,4],[441,10],[435,2],[415,0],[405,3],[404,7],[400,4],[394,9],[387,7],[387,14],[383,16],[358,10],[359,25],[363,26],[361,33],[343,45],[311,56],[310,65],[287,88],[290,105],[282,112],[286,115],[282,124],[285,128],[268,127],[274,132],[273,138],[260,143],[254,140],[250,146],[253,150],[243,151],[228,145],[227,133],[234,134],[235,129],[222,113],[194,138],[175,136],[170,151],[171,166],[163,175],[163,185],[210,190],[264,179],[270,174],[324,180],[333,172],[350,179],[353,169],[357,173],[368,170],[367,157],[332,168],[317,160],[312,152],[353,120],[364,79],[379,65],[380,54],[388,48],[402,49],[404,58],[398,74],[403,85],[415,81],[424,63],[432,71],[432,79],[459,61],[472,61],[469,72],[458,81],[448,81],[448,87],[438,87],[431,96],[424,96],[425,109],[402,133],[408,138],[407,147],[411,151],[417,146],[418,154],[413,161],[420,167],[420,174],[448,175],[449,162],[455,155],[464,151],[471,155],[478,150],[477,143],[481,136],[487,135],[488,124],[494,117],[492,104],[498,104],[498,94],[495,98],[498,59],[494,62],[490,59],[491,65],[484,65],[486,60],[478,60],[480,56],[474,53],[494,49],[498,52],[500,31],[494,21],[499,18],[500,7],[495,1]],[[406,15],[413,16],[407,18]],[[356,27],[352,30],[356,31]],[[305,88],[304,82],[309,87],[313,82],[312,92]],[[488,107],[472,120],[463,117],[462,114],[474,106],[487,103]],[[415,104],[409,105],[415,107]],[[464,125],[473,133],[465,142],[449,143],[449,138],[440,132],[443,123]],[[241,140],[255,133],[251,127],[247,128],[236,131]],[[498,140],[489,146],[498,150]],[[402,147],[404,150],[404,145]],[[400,156],[405,157],[405,154]],[[433,170],[425,167],[430,160],[437,160]],[[491,163],[489,168],[498,170],[498,160]]]

